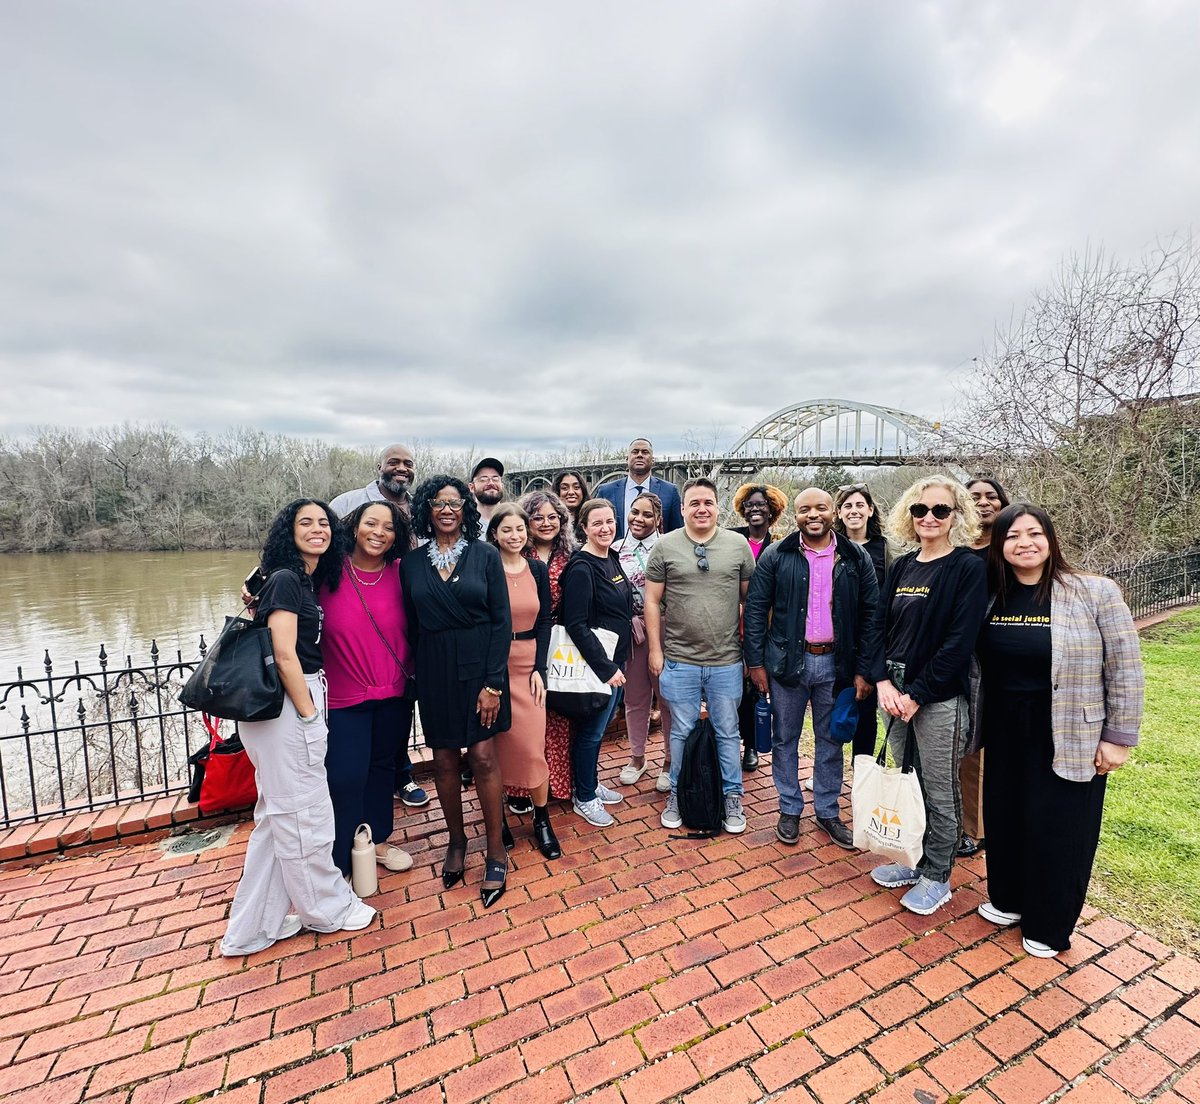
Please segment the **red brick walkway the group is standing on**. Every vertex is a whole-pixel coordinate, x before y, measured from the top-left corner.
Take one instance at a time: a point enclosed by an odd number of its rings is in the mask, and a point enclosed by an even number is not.
[[[515,826],[487,912],[478,850],[443,892],[437,805],[403,810],[382,923],[248,959],[216,955],[248,824],[0,868],[0,1099],[1200,1104],[1196,961],[1094,913],[1026,958],[973,914],[982,859],[906,913],[811,816],[778,844],[764,772],[752,830],[670,840],[653,779],[608,830],[559,812],[557,863]]]

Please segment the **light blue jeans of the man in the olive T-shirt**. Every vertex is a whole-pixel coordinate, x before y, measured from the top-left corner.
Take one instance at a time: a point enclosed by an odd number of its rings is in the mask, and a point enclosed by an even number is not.
[[[716,754],[721,760],[721,791],[742,793],[742,736],[738,706],[742,702],[742,664],[697,667],[667,660],[659,676],[659,694],[671,707],[671,792],[679,781],[683,745],[700,720],[700,701],[708,702],[708,718],[716,730]]]

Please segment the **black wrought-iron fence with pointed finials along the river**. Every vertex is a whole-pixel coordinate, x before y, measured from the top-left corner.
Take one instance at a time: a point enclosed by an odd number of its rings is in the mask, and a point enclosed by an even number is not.
[[[1106,571],[1134,617],[1200,599],[1200,548]],[[208,743],[199,716],[179,704],[184,682],[204,655],[164,659],[151,642],[148,664],[113,664],[103,646],[94,665],[0,682],[0,826],[88,812],[187,788],[187,756]],[[232,722],[223,722],[229,732]],[[226,734],[222,732],[222,734]],[[414,722],[412,745],[419,737]]]

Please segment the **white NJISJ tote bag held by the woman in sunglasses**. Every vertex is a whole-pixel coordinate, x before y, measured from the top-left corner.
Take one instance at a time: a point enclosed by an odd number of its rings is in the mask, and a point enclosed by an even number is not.
[[[854,846],[860,851],[916,866],[924,854],[925,802],[912,766],[912,731],[905,745],[904,764],[886,767],[888,742],[878,758],[854,756],[854,781],[850,804],[854,814]]]

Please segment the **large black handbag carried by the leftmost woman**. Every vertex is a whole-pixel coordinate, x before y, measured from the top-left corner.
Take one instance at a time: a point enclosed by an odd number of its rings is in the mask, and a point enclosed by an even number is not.
[[[244,617],[227,617],[179,700],[188,709],[230,721],[268,721],[283,712],[283,683],[275,666],[271,630]]]

